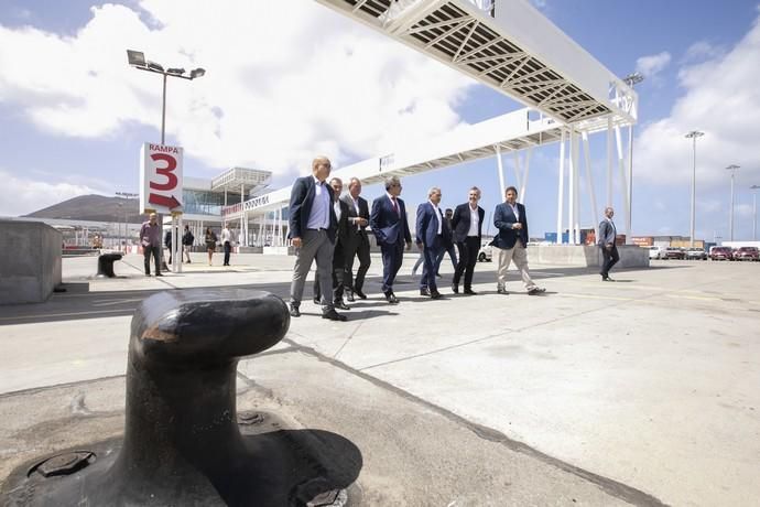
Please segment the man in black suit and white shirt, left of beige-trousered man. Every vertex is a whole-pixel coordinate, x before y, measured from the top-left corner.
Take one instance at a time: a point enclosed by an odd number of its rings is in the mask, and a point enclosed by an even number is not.
[[[473,273],[478,261],[480,251],[480,238],[482,234],[482,219],[486,216],[484,208],[478,206],[480,201],[480,188],[474,186],[469,190],[467,202],[454,209],[452,217],[452,228],[454,229],[454,240],[459,249],[459,262],[454,271],[452,280],[452,291],[459,293],[459,280],[462,273],[465,274],[465,294],[475,294],[473,290]]]

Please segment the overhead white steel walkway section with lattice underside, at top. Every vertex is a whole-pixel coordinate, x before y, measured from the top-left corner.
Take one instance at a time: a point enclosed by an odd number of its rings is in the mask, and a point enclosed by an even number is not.
[[[636,93],[523,0],[316,1],[564,123],[636,121]]]

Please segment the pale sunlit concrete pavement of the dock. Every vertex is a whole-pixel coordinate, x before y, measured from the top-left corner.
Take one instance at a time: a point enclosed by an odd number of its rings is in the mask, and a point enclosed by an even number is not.
[[[372,257],[369,299],[303,316],[239,365],[239,407],[327,430],[361,452],[362,505],[757,505],[760,263],[653,261],[612,271],[532,266],[496,292],[419,294],[409,255],[389,305]],[[293,258],[232,256],[145,277],[142,259],[95,279],[64,259],[66,292],[0,306],[0,481],[56,449],[118,435],[129,324],[165,290],[247,287],[286,299]],[[310,280],[313,277],[310,276]]]

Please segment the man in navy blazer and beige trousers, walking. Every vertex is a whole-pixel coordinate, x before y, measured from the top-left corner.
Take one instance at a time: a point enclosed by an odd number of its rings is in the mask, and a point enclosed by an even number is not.
[[[498,255],[497,266],[497,292],[507,294],[507,270],[509,263],[514,261],[522,277],[522,282],[530,295],[546,292],[533,283],[528,272],[528,216],[525,206],[518,203],[518,190],[509,186],[504,192],[507,201],[499,204],[493,212],[493,225],[499,233],[493,238],[492,245]]]

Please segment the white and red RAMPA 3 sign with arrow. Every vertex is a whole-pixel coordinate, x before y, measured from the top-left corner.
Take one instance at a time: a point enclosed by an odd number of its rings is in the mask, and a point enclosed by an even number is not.
[[[140,207],[144,213],[182,213],[182,148],[142,145]]]

